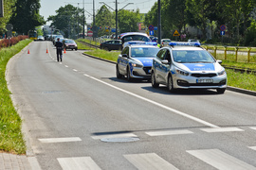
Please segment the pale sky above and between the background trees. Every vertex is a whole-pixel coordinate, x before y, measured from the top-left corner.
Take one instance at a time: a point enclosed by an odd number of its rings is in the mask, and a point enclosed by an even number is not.
[[[97,10],[101,8],[103,4],[100,2],[104,2],[111,8],[116,9],[116,0],[84,0],[84,9],[85,9],[85,19],[86,23],[90,24],[93,21],[93,18],[90,14],[93,14],[93,1],[95,3],[95,14],[97,14]],[[118,0],[118,8],[125,7],[128,3],[127,7],[124,9],[134,9],[139,8],[140,13],[147,13],[157,2],[157,0]],[[83,8],[82,0],[41,0],[41,8],[39,10],[40,15],[44,16],[44,19],[47,20],[48,16],[56,15],[56,10],[58,8],[64,7],[68,4],[71,4],[74,7]],[[112,9],[110,9],[112,10]],[[46,25],[50,25],[50,23],[46,23]]]

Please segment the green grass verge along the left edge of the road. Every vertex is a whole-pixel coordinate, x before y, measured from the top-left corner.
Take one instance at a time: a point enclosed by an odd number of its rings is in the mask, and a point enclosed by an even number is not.
[[[27,147],[21,132],[22,120],[9,96],[5,72],[9,59],[29,42],[31,41],[25,40],[0,50],[0,150],[16,154],[25,154]]]

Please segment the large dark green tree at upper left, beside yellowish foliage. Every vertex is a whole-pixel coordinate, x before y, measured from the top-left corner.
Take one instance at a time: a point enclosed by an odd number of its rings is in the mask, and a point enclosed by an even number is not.
[[[40,0],[17,0],[15,7],[10,24],[18,33],[27,34],[28,30],[46,24],[44,17],[39,14]]]

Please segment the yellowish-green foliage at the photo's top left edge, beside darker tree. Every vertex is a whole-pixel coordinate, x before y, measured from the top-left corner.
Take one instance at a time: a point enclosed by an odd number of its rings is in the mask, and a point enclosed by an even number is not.
[[[4,17],[0,18],[0,34],[6,32],[6,26],[9,23],[9,19],[13,13],[16,0],[4,0]]]

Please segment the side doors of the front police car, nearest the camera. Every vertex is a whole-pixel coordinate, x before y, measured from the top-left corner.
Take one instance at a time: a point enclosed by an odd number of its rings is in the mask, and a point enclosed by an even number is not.
[[[167,49],[162,48],[158,51],[156,58],[154,59],[154,67],[155,67],[155,80],[159,83],[164,82],[164,74],[163,74],[163,64],[162,60],[164,59],[165,53]]]

